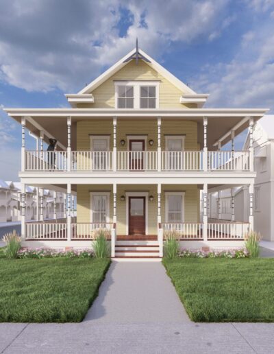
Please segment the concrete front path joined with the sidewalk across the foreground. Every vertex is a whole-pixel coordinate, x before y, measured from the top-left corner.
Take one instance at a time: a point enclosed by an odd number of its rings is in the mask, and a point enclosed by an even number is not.
[[[116,263],[82,323],[0,323],[0,353],[274,353],[274,324],[190,322],[161,263]]]

